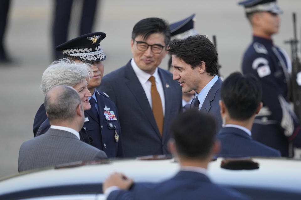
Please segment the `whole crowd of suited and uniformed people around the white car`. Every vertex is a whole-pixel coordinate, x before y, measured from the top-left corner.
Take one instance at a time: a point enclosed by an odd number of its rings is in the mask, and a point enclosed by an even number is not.
[[[232,73],[224,81],[218,76],[216,48],[193,29],[194,15],[172,25],[156,17],[137,22],[130,43],[133,58],[104,77],[100,42],[105,33],[87,33],[55,47],[64,58],[43,73],[45,101],[34,118],[34,138],[20,147],[18,170],[172,154],[181,166],[175,177],[132,187],[132,179],[115,173],[103,183],[103,192],[108,199],[184,194],[248,199],[210,182],[210,160],[288,157],[292,147],[301,146],[301,127],[289,106],[290,59],[272,42],[282,11],[275,0],[240,5],[253,42],[244,54],[243,74]],[[167,54],[172,73],[158,68]],[[197,189],[191,191],[190,185]]]

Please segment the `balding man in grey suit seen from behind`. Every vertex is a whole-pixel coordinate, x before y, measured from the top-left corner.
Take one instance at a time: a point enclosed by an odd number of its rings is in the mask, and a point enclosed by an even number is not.
[[[24,142],[19,151],[18,171],[75,161],[107,158],[107,155],[80,141],[84,110],[77,91],[61,85],[45,96],[45,110],[51,124],[43,135]]]

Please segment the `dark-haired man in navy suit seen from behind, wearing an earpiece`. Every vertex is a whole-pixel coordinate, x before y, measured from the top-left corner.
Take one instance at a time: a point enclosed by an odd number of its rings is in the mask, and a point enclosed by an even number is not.
[[[261,84],[250,75],[230,74],[220,89],[220,113],[224,126],[217,134],[221,142],[218,157],[280,157],[280,152],[252,139],[251,128],[261,103]]]

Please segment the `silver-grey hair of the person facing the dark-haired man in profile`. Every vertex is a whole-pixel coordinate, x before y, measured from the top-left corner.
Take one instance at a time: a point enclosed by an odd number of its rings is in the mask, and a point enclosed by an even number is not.
[[[76,63],[68,58],[57,60],[50,64],[42,76],[41,90],[44,95],[55,86],[67,85],[74,87],[84,79],[92,77],[92,65],[88,63]]]

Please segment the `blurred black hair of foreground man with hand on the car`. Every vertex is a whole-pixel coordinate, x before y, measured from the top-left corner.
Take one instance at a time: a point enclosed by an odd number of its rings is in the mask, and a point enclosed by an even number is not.
[[[215,142],[215,121],[210,115],[190,109],[172,122],[171,133],[182,158],[206,159]]]

